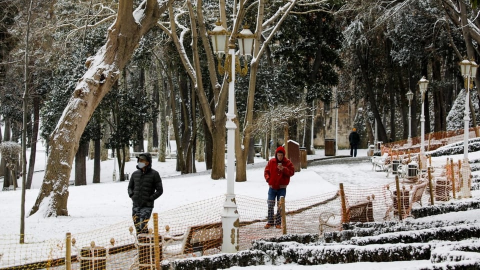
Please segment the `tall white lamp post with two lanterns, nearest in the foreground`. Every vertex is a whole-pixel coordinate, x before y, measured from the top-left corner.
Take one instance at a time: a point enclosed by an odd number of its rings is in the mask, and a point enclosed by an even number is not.
[[[235,1],[236,3],[236,1]],[[224,8],[224,6],[222,7]],[[223,12],[225,10],[222,10]],[[236,23],[236,4],[233,4],[233,29]],[[223,203],[223,211],[221,213],[221,224],[223,232],[223,242],[221,244],[221,251],[226,253],[237,252],[239,249],[239,236],[238,225],[239,215],[236,208],[235,192],[234,192],[234,173],[235,173],[235,128],[236,124],[233,122],[233,118],[236,117],[234,113],[234,101],[235,101],[235,71],[239,72],[241,76],[246,75],[248,72],[246,65],[246,56],[251,55],[253,48],[254,35],[248,29],[247,26],[243,27],[236,35],[231,35],[222,25],[220,21],[216,22],[213,30],[208,34],[211,37],[211,43],[213,46],[213,53],[217,55],[218,60],[218,73],[221,75],[227,73],[228,76],[228,111],[226,113],[225,128],[227,130],[227,182],[226,182],[226,194],[225,202]],[[239,41],[239,54],[245,57],[244,67],[240,69],[240,61],[235,58],[235,40]],[[228,41],[228,44],[227,44]],[[228,47],[228,50],[227,50]],[[221,64],[221,58],[225,55],[223,65]]]

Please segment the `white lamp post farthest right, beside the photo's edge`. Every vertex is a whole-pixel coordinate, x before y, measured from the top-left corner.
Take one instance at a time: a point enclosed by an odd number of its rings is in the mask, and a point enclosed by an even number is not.
[[[473,88],[473,78],[476,74],[476,68],[478,65],[475,61],[468,59],[463,59],[460,62],[461,75],[465,81],[465,111],[463,115],[464,121],[464,130],[463,130],[463,159],[468,161],[468,124],[470,121],[470,112],[468,107],[469,97],[470,97],[470,88]]]

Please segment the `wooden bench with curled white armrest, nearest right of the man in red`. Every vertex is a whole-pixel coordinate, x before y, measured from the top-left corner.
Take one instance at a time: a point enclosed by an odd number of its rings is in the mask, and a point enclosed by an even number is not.
[[[372,194],[371,197],[367,196],[366,200],[358,201],[346,208],[346,220],[343,223],[348,222],[373,222],[373,199],[375,195]],[[338,222],[333,223],[333,220],[338,217]],[[318,216],[318,230],[320,233],[323,232],[324,226],[331,228],[340,228],[342,224],[342,214],[332,213],[332,212],[322,212]]]

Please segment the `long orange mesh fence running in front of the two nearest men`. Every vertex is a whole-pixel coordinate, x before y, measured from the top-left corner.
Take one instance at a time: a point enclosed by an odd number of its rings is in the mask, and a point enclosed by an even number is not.
[[[433,177],[438,178],[435,192],[440,188],[439,179],[445,180],[445,190],[451,186],[451,164],[446,163],[443,166],[436,164],[432,170]],[[455,178],[458,175],[457,166],[458,163],[456,168],[453,163]],[[429,188],[424,177],[422,174],[417,181],[399,181],[402,217],[406,217],[412,207],[429,203]],[[339,229],[342,221],[398,219],[396,188],[395,182],[373,187],[340,184],[337,191],[286,200],[285,222],[282,225],[286,233],[321,233]],[[435,201],[445,199],[442,193],[434,194]],[[71,269],[143,269],[153,265],[155,256],[171,260],[218,253],[222,243],[224,200],[224,196],[217,196],[158,213],[156,226],[159,236],[156,239],[151,233],[155,226],[153,218],[148,223],[150,233],[138,237],[131,229],[130,218],[96,230],[72,233]],[[266,199],[236,195],[235,200],[239,213],[239,249],[249,248],[252,240],[283,233],[283,229],[264,228],[267,221]],[[26,235],[25,243],[18,244],[18,235],[0,234],[0,269],[65,269],[68,237],[48,240],[40,237]],[[155,244],[156,241],[158,244]]]

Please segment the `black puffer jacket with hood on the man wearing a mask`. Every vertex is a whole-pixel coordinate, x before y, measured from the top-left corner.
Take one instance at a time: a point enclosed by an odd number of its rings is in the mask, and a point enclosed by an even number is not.
[[[128,196],[133,205],[153,207],[153,201],[163,193],[163,186],[158,171],[151,168],[151,154],[142,153],[147,157],[148,165],[145,170],[136,167],[128,182]],[[138,159],[138,157],[137,157]]]

